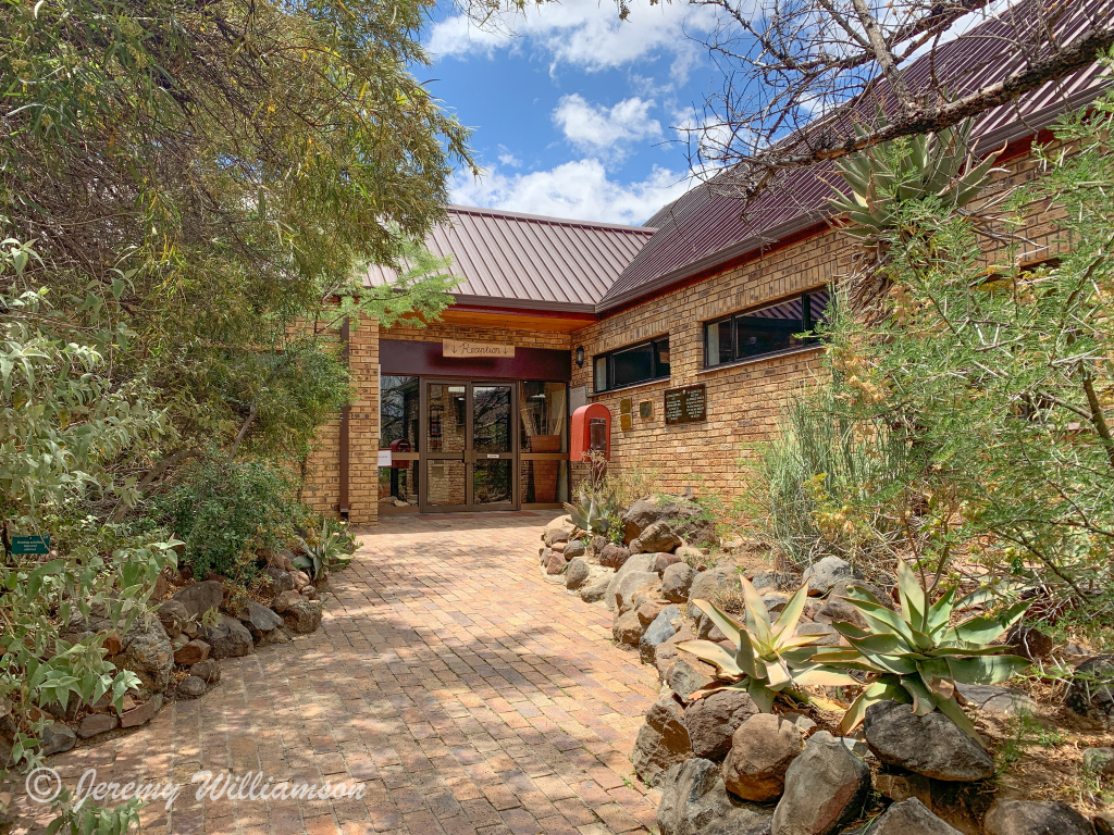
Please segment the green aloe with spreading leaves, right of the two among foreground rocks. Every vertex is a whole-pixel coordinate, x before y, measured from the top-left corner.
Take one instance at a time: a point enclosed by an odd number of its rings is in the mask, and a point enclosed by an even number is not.
[[[898,561],[897,574],[901,610],[893,611],[867,590],[850,587],[844,599],[862,615],[867,628],[833,623],[851,649],[820,652],[813,659],[871,676],[840,729],[850,731],[870,705],[889,699],[912,703],[917,716],[939,710],[981,744],[956,699],[956,682],[999,684],[1028,666],[1024,658],[1003,655],[1005,647],[988,645],[1016,623],[1029,605],[1019,602],[998,616],[973,617],[952,625],[954,610],[970,602],[956,600],[955,587],[929,605],[928,592],[903,560]]]

